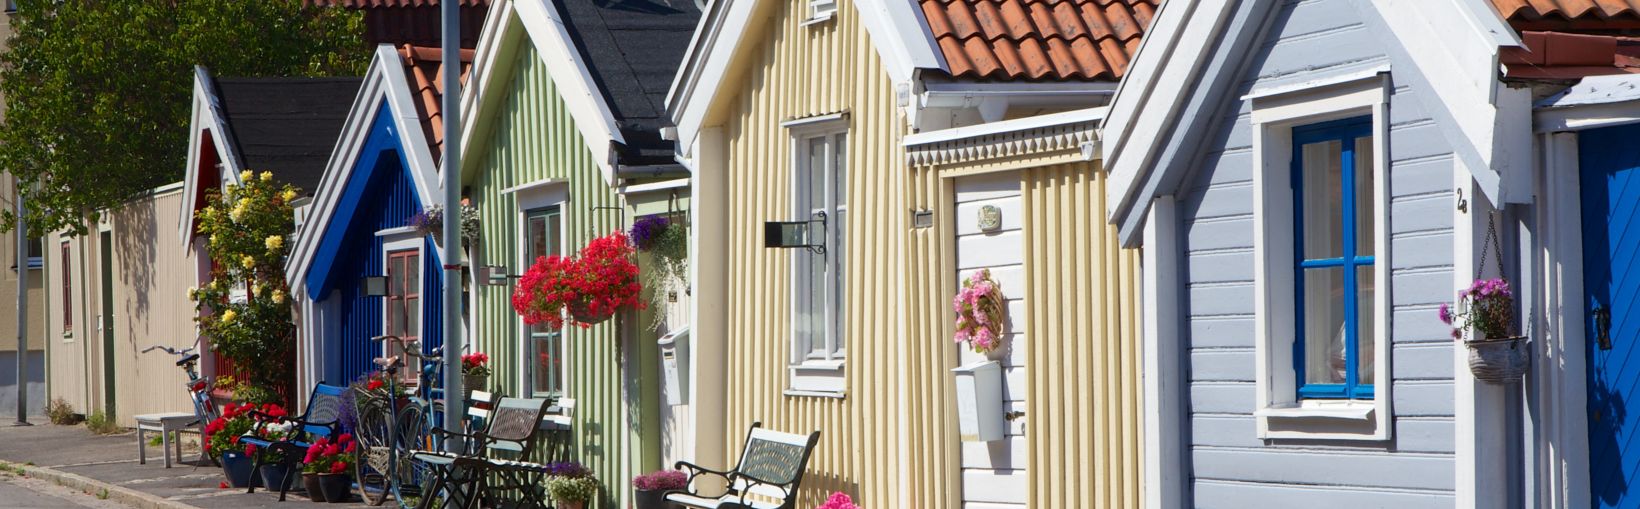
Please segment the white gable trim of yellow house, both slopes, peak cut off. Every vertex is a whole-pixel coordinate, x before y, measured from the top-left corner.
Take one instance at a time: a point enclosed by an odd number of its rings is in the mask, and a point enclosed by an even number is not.
[[[718,94],[723,79],[751,51],[745,43],[769,30],[771,23],[763,23],[766,15],[782,5],[774,0],[713,0],[707,5],[684,66],[666,94],[666,108],[677,125],[679,153],[687,156],[707,110],[725,99]],[[948,71],[922,10],[912,0],[854,0],[854,10],[895,84],[909,82],[918,69]]]

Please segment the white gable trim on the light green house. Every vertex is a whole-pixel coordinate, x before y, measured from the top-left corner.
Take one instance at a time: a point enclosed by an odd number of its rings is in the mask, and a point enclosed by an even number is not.
[[[469,85],[462,103],[466,105],[466,122],[462,122],[462,153],[469,153],[474,143],[474,126],[485,115],[494,117],[489,108],[503,103],[495,87],[505,85],[499,77],[510,76],[510,62],[497,62],[508,48],[517,48],[517,38],[530,39],[535,51],[541,54],[558,94],[563,97],[569,115],[576,118],[581,140],[592,151],[592,161],[604,172],[604,182],[615,186],[613,143],[626,143],[620,126],[615,123],[613,108],[604,100],[604,94],[592,80],[585,59],[576,51],[569,30],[558,7],[543,0],[510,0],[490,7],[490,18],[485,21],[484,36],[479,43],[477,57],[472,69],[476,85]],[[523,28],[523,31],[520,31]],[[495,76],[495,72],[503,72]],[[472,161],[474,158],[467,158]]]

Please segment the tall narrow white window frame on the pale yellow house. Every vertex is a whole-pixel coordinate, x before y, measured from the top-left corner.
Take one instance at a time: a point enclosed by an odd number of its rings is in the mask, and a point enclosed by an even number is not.
[[[812,207],[810,209],[799,207],[800,200],[797,197],[807,195],[807,192],[809,192],[809,189],[807,189],[807,182],[809,182],[809,179],[807,179],[807,176],[809,176],[809,141],[815,140],[815,138],[831,138],[831,141],[828,141],[827,148],[831,149],[833,153],[835,153],[835,143],[836,143],[835,140],[836,140],[836,136],[841,136],[845,140],[845,146],[850,144],[850,140],[848,140],[850,138],[848,115],[833,113],[833,115],[820,115],[820,117],[799,118],[799,120],[786,122],[786,123],[782,123],[782,126],[786,126],[787,131],[789,131],[789,135],[790,135],[790,154],[792,154],[790,190],[789,190],[790,197],[792,197],[790,199],[790,218],[792,220],[807,220],[807,218],[810,218],[813,215],[813,210],[810,210]],[[846,161],[848,154],[845,153],[843,158]],[[831,167],[830,171],[835,171],[835,167]],[[843,176],[845,177],[845,186],[848,182],[848,174],[846,172],[850,172],[850,171],[853,171],[853,167],[845,167],[845,176]],[[827,179],[827,182],[835,182],[835,179]],[[835,192],[827,192],[825,195],[835,197]],[[841,209],[838,209],[835,202],[828,202],[828,204],[825,204],[823,209],[833,210],[833,212],[835,210],[845,210],[846,212],[848,205],[845,204],[845,205],[841,205]],[[828,217],[827,222],[830,223],[831,217]],[[825,228],[823,245],[827,246],[827,263],[828,264],[831,263],[831,259],[835,259],[835,258],[831,258],[831,254],[833,254],[831,253],[833,251],[831,246],[838,245],[838,241],[840,241],[840,238],[836,238],[836,230],[838,228],[830,228],[830,227]],[[845,235],[848,235],[846,228],[845,228]],[[845,246],[846,246],[846,238],[843,238],[843,240],[845,240]],[[800,287],[800,284],[799,284],[799,277],[797,277],[799,276],[799,269],[802,269],[799,266],[799,259],[800,259],[802,254],[804,253],[799,253],[797,250],[794,250],[789,254],[790,256],[789,258],[789,268],[790,269],[789,269],[789,274],[787,274],[787,277],[789,277],[787,282],[789,282],[790,315],[792,317],[799,315],[799,307],[800,307],[800,302],[802,302],[799,299],[799,294],[800,294],[799,287]],[[838,254],[845,254],[845,253],[838,253]],[[845,273],[845,279],[846,279],[846,268],[848,268],[846,266],[846,259],[843,263],[845,263],[843,273]],[[835,299],[830,299],[830,296],[835,296],[840,291],[846,294],[846,289],[840,289],[835,284],[831,284],[831,281],[836,281],[836,279],[828,277],[827,281],[828,281],[827,297],[828,297],[830,302],[836,302]],[[848,338],[845,335],[846,330],[848,330],[848,323],[843,322],[843,320],[846,320],[848,317],[841,315],[841,320],[840,320],[838,315],[843,314],[843,309],[840,309],[836,305],[828,305],[825,309],[825,312],[827,312],[827,323],[831,323],[833,327],[827,330],[827,343],[830,343],[831,348],[822,348],[823,358],[810,358],[809,356],[809,353],[813,351],[815,348],[813,348],[813,345],[807,338],[802,338],[802,337],[797,335],[795,320],[790,320],[790,323],[794,323],[794,327],[787,330],[787,335],[789,335],[787,346],[790,346],[790,355],[789,355],[789,387],[786,391],[787,396],[843,397],[843,394],[846,392],[846,379],[845,379],[843,366],[845,366],[845,361],[848,358],[848,343],[851,343],[851,342],[848,342]],[[838,322],[843,322],[843,323],[838,323]],[[841,342],[841,346],[836,346],[838,342]]]

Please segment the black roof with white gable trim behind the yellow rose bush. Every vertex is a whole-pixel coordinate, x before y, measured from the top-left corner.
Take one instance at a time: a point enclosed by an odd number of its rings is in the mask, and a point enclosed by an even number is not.
[[[303,194],[313,190],[336,146],[341,120],[359,92],[358,77],[213,77],[194,67],[194,113],[179,236],[194,240],[194,210],[205,164],[221,164],[221,176],[238,182],[239,171],[271,171]],[[207,153],[213,158],[205,159]]]

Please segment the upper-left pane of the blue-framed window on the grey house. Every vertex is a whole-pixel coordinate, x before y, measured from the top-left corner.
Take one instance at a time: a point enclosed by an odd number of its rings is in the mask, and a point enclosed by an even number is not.
[[[1343,256],[1343,186],[1338,161],[1343,144],[1337,140],[1304,146],[1304,259]]]

